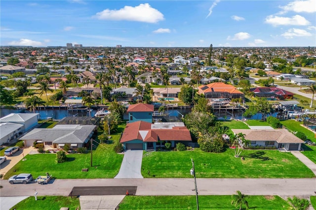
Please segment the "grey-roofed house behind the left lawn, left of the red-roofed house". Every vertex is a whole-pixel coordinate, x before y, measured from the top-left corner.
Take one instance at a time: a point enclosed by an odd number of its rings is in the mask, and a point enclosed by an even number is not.
[[[53,128],[35,128],[20,140],[25,146],[33,146],[35,141],[44,144],[44,149],[62,149],[69,144],[72,149],[83,147],[96,129],[95,125],[56,125]]]

